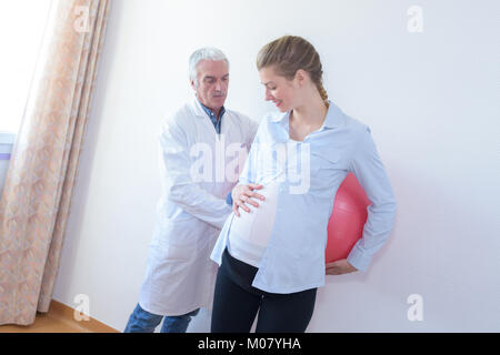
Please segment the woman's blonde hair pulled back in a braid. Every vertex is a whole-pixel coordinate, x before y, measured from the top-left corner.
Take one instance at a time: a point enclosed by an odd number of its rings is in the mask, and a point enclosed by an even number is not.
[[[318,92],[328,104],[323,88],[323,70],[314,47],[301,37],[283,36],[269,42],[257,54],[257,69],[273,67],[278,75],[292,80],[299,69],[304,70],[316,83]]]

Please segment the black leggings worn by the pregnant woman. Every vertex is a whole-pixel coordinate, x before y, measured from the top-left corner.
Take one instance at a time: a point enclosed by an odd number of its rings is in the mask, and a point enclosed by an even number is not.
[[[317,288],[290,294],[263,292],[251,285],[257,271],[224,250],[216,281],[211,332],[249,333],[257,311],[257,333],[306,332]]]

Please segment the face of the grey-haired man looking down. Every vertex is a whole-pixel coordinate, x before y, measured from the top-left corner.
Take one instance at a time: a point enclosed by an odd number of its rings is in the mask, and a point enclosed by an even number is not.
[[[198,100],[214,111],[223,106],[228,95],[229,69],[224,60],[201,60],[198,65],[198,88],[191,81]]]

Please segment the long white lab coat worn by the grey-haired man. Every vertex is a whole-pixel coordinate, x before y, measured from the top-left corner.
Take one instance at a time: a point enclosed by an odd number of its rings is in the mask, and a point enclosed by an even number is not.
[[[223,166],[238,165],[241,171],[257,128],[257,122],[246,115],[226,110],[219,135],[197,99],[166,120],[160,134],[163,191],[140,292],[143,310],[173,316],[211,308],[218,265],[210,254],[231,213],[226,196],[238,181],[238,174],[230,181],[223,171],[222,175],[217,171],[216,156],[222,156]],[[221,142],[219,148],[222,143],[226,148],[239,144],[243,150],[240,160],[237,153],[232,155],[233,150],[224,156],[226,149],[217,149],[217,141]],[[196,153],[197,148],[210,148],[212,179],[193,181],[191,168],[202,156],[199,152],[192,156],[191,150]]]

